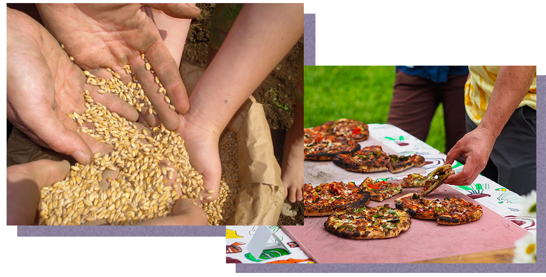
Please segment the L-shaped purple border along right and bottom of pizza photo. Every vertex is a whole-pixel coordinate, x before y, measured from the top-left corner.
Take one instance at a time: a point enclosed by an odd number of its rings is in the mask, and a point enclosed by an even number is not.
[[[307,61],[307,57],[305,58]],[[545,82],[546,77],[537,76],[537,94],[545,91]],[[544,156],[546,154],[546,139],[544,136],[546,125],[542,123],[542,121],[546,119],[546,114],[543,109],[544,105],[546,105],[545,102],[546,97],[537,97],[537,180],[546,179],[546,168],[544,168],[544,162],[546,162]],[[546,202],[544,199],[546,195],[545,190],[546,185],[544,183],[537,185],[538,214],[544,213],[543,207]],[[537,240],[541,240],[541,242],[544,241],[543,228],[537,228]],[[393,267],[390,264],[276,264],[276,266],[270,266],[269,264],[235,264],[235,272],[546,272],[544,260],[542,260],[542,256],[544,256],[544,247],[542,246],[542,243],[540,243],[540,245],[541,247],[537,248],[537,264],[397,264],[396,267]]]

